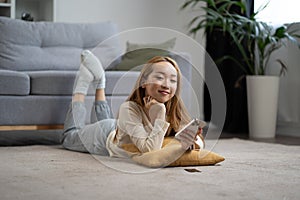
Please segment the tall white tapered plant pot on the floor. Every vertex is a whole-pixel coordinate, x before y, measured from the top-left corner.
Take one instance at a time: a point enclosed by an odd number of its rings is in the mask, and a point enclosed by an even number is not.
[[[247,76],[249,137],[274,138],[279,94],[278,76]]]

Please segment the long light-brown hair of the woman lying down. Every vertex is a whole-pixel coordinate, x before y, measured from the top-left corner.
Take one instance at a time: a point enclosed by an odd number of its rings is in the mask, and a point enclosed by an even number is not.
[[[170,123],[166,136],[169,136],[177,132],[181,128],[181,125],[187,124],[191,119],[181,99],[182,74],[175,60],[170,57],[163,56],[155,56],[150,59],[142,68],[135,87],[127,98],[127,101],[134,101],[141,107],[145,106],[143,98],[146,95],[146,89],[142,88],[142,85],[145,83],[148,76],[153,72],[153,64],[159,62],[169,62],[177,71],[177,90],[175,95],[169,101],[165,102],[167,115],[166,119]]]

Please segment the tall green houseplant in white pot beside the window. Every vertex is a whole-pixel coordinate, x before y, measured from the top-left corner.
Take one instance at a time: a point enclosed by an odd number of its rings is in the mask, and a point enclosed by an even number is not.
[[[205,4],[205,5],[204,5]],[[197,34],[204,29],[206,34],[221,31],[229,35],[241,58],[224,55],[215,62],[233,60],[245,73],[247,83],[248,119],[250,138],[273,138],[276,132],[279,77],[287,70],[281,59],[276,59],[281,70],[277,75],[268,74],[271,55],[287,41],[298,44],[296,30],[292,24],[282,25],[275,30],[256,19],[257,14],[267,5],[250,13],[245,0],[187,0],[182,9],[202,9],[205,15],[194,17],[190,23],[190,33]],[[238,12],[232,12],[232,8]]]

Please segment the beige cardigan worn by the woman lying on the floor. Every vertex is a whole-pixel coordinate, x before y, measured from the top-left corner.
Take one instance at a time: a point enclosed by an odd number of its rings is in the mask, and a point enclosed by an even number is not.
[[[128,152],[121,148],[123,144],[133,143],[142,153],[161,149],[169,125],[160,119],[152,125],[141,106],[126,101],[120,106],[117,129],[106,141],[107,150],[111,157],[128,157]]]

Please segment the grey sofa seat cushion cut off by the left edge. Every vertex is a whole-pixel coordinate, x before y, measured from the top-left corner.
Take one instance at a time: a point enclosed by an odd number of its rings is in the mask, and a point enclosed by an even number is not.
[[[0,70],[0,86],[1,95],[28,95],[29,76],[23,72]]]

